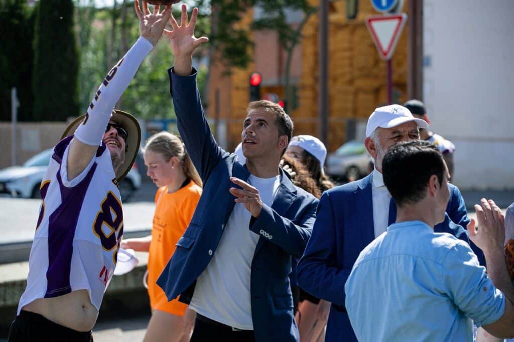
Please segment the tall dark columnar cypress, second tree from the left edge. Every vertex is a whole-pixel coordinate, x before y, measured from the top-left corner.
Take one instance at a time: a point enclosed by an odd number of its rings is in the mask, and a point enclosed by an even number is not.
[[[71,0],[40,0],[34,35],[34,119],[80,114],[79,51]]]

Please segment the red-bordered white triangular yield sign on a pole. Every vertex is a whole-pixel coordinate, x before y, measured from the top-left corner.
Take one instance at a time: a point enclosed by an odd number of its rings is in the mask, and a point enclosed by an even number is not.
[[[407,14],[374,15],[366,18],[366,26],[377,46],[378,54],[387,61],[391,58]]]

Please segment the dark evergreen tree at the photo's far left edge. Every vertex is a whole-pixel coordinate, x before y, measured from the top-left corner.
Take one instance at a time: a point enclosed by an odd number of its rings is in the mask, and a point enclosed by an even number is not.
[[[20,0],[0,0],[0,120],[11,120],[11,88],[20,103],[19,120],[32,119],[32,8]]]

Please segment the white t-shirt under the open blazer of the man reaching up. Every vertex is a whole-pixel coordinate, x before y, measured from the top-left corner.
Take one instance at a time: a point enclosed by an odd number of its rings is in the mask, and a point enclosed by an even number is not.
[[[280,185],[280,175],[248,183],[259,190],[262,203],[271,206]],[[259,235],[252,232],[250,212],[236,203],[209,265],[196,280],[189,308],[227,326],[253,330],[250,276]]]

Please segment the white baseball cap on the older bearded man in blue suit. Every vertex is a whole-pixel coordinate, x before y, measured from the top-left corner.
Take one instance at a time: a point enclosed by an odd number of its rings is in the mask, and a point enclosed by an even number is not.
[[[428,128],[425,120],[412,116],[411,112],[403,106],[389,105],[379,107],[375,109],[368,119],[366,137],[370,137],[378,127],[391,128],[409,121],[414,121],[419,128]]]

